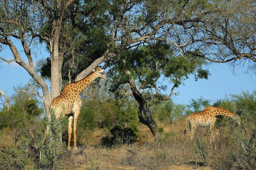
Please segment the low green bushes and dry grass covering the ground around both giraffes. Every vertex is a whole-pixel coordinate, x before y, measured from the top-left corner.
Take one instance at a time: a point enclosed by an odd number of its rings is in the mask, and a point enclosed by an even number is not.
[[[18,88],[29,90],[28,86]],[[150,106],[161,135],[157,143],[147,126],[139,123],[138,103],[132,97],[116,98],[98,82],[84,91],[81,99],[79,149],[68,152],[65,151],[67,118],[61,121],[52,118],[56,134],[62,131],[63,145],[44,146],[41,142],[47,120],[42,116],[42,104],[38,103],[35,94],[17,93],[10,97],[9,113],[6,106],[0,112],[1,168],[190,169],[206,166],[254,169],[256,166],[256,91],[242,91],[214,101],[203,97],[191,99],[189,105],[169,99]],[[218,117],[212,146],[209,145],[208,129],[198,129],[193,141],[183,135],[187,115],[207,105],[227,108],[241,117],[240,124]]]

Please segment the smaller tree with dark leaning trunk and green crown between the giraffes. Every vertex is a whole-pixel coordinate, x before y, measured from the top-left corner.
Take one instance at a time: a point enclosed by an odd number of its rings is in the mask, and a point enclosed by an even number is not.
[[[184,54],[184,57],[186,59],[174,55],[173,46],[158,42],[123,52],[107,62],[110,67],[108,77],[113,81],[111,91],[118,96],[134,97],[139,104],[139,121],[149,127],[155,140],[160,134],[149,106],[170,99],[175,88],[183,84],[190,74],[194,74],[196,80],[208,79],[209,72],[202,67],[206,64],[204,58],[191,54]],[[172,88],[166,95],[169,84]]]

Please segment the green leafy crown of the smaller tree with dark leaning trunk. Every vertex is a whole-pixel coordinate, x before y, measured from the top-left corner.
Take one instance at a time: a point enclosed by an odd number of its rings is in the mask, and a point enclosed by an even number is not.
[[[140,84],[142,89],[158,87],[159,91],[166,89],[166,85],[160,83],[161,76],[169,79],[170,83],[176,84],[176,87],[183,83],[189,74],[194,74],[196,80],[207,79],[209,72],[203,71],[202,68],[206,64],[205,60],[190,55],[187,57],[188,59],[184,60],[182,57],[173,56],[173,46],[157,42],[152,46],[142,46],[138,50],[123,52],[108,62],[107,65],[111,66],[108,76],[113,78],[113,87],[115,87],[115,83],[127,82],[129,76],[124,76],[124,72],[129,70],[130,76]],[[147,92],[149,91],[146,91],[145,95]]]

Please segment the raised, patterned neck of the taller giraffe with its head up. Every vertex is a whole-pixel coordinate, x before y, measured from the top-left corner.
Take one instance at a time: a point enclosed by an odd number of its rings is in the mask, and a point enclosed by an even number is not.
[[[89,76],[85,77],[84,79],[74,82],[78,94],[82,93],[98,77],[98,74],[96,72],[97,70],[91,73]]]

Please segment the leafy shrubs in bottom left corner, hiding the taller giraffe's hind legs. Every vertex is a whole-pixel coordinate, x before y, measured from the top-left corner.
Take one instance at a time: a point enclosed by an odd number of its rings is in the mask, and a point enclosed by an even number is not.
[[[30,169],[59,169],[59,158],[65,148],[61,143],[62,124],[67,123],[67,119],[57,119],[52,114],[51,121],[37,121],[33,126],[25,124],[24,126],[15,126],[14,141],[16,145],[6,148],[6,151],[0,152],[1,169],[24,169],[29,166]],[[45,126],[49,125],[48,135],[45,144],[44,138]]]

